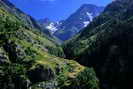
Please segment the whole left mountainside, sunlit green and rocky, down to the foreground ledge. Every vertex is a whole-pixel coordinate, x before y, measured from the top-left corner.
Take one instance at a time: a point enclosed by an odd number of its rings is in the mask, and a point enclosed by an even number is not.
[[[99,89],[93,68],[64,59],[59,45],[10,6],[0,0],[1,89]]]

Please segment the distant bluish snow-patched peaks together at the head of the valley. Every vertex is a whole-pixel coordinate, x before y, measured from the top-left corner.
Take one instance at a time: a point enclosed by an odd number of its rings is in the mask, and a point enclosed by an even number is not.
[[[39,22],[43,28],[48,29],[55,37],[61,41],[65,41],[87,27],[87,25],[92,22],[93,18],[98,16],[103,10],[104,7],[84,4],[66,20],[53,22],[45,18],[39,20]]]

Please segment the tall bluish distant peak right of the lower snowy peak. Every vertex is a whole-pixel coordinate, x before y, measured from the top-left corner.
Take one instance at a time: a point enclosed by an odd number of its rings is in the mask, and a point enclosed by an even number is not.
[[[54,35],[63,41],[70,39],[80,30],[87,27],[93,18],[98,16],[103,9],[103,7],[91,4],[82,5],[58,27],[59,30],[57,30]]]

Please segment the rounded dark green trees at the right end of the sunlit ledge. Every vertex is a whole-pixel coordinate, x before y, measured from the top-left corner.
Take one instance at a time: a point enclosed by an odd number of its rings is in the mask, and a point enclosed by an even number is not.
[[[99,89],[98,79],[93,69],[85,69],[71,84],[71,89]]]

